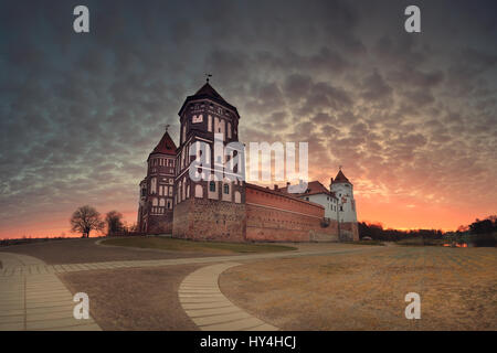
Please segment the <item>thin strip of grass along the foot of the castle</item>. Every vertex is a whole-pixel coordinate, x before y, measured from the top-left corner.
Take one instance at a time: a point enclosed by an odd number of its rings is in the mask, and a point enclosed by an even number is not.
[[[166,237],[127,237],[105,239],[101,244],[128,246],[170,252],[199,252],[210,254],[253,254],[296,250],[297,248],[275,244],[193,242]]]

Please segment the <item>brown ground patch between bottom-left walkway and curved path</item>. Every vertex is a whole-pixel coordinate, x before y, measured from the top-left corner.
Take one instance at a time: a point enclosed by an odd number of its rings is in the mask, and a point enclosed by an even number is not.
[[[89,298],[89,312],[103,330],[197,330],[178,299],[184,276],[198,265],[93,270],[57,275],[74,293]]]

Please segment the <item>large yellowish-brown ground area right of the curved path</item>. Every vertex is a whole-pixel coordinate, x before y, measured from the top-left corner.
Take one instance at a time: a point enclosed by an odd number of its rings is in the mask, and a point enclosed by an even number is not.
[[[496,268],[496,248],[382,247],[251,263],[220,286],[283,330],[497,330]],[[420,320],[405,319],[408,292]]]

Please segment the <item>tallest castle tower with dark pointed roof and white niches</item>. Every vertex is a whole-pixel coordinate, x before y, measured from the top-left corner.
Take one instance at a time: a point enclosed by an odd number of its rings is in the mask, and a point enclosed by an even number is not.
[[[245,189],[242,181],[228,180],[226,173],[214,173],[232,157],[215,154],[239,141],[240,115],[234,106],[207,82],[188,96],[178,113],[180,145],[176,160],[173,236],[242,240],[245,233]],[[214,139],[219,133],[220,140]],[[199,168],[201,180],[190,178],[190,164],[200,156],[195,142],[205,143],[211,168]],[[205,146],[204,145],[204,146]],[[190,152],[193,151],[190,156]],[[195,156],[197,154],[197,156]],[[234,152],[236,154],[236,151]]]

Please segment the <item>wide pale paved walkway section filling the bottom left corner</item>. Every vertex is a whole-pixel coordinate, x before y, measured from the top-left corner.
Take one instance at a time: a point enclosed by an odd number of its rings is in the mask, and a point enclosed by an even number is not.
[[[7,253],[0,260],[11,274],[0,277],[0,331],[101,330],[92,318],[74,318],[73,295],[55,275],[34,270],[45,268],[43,261]]]

